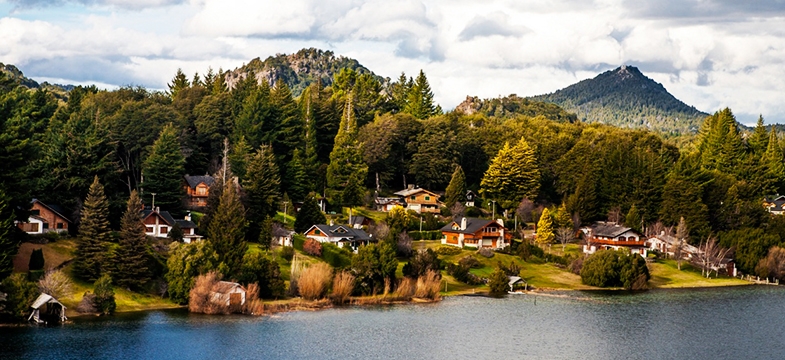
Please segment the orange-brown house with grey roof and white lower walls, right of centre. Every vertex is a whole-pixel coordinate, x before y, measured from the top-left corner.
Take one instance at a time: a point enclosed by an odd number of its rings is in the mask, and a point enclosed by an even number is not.
[[[502,249],[510,245],[512,234],[502,220],[462,218],[442,228],[442,244],[458,247]]]

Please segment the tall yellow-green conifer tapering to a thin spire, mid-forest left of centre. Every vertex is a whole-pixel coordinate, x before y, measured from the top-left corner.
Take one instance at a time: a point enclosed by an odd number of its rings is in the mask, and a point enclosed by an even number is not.
[[[357,140],[355,121],[350,94],[346,99],[341,126],[335,136],[335,146],[330,153],[330,165],[327,166],[327,186],[335,197],[343,193],[351,177],[364,180],[368,174],[368,166],[363,162],[362,148]]]

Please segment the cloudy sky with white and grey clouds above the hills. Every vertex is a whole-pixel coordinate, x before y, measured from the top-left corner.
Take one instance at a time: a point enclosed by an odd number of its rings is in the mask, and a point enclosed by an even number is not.
[[[785,123],[785,0],[0,0],[0,62],[39,81],[164,89],[303,47],[466,95],[537,95],[622,64],[700,110]]]

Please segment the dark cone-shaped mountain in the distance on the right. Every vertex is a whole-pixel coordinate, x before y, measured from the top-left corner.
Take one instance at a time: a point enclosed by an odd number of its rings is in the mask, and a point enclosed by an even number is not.
[[[628,65],[530,99],[559,105],[585,122],[663,133],[695,133],[708,116]]]

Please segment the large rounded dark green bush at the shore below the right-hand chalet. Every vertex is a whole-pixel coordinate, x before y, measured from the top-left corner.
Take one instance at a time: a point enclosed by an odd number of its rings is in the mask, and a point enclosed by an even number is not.
[[[581,269],[581,282],[599,287],[640,290],[649,277],[646,260],[626,249],[598,251],[583,262]]]

